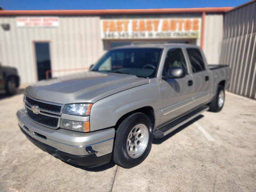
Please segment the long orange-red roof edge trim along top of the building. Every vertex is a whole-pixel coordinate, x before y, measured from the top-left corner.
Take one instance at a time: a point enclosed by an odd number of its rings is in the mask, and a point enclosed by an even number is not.
[[[166,13],[224,13],[234,7],[203,7],[182,9],[121,9],[121,10],[0,10],[0,16],[15,15],[111,15]]]

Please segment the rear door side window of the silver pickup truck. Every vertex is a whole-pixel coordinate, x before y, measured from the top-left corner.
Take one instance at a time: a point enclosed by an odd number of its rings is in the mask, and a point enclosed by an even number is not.
[[[204,60],[200,51],[195,48],[189,48],[187,52],[193,73],[205,70]]]

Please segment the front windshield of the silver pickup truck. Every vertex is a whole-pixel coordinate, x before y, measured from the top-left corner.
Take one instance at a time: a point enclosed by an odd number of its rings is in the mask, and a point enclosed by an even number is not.
[[[108,51],[92,71],[154,77],[163,49],[129,48]]]

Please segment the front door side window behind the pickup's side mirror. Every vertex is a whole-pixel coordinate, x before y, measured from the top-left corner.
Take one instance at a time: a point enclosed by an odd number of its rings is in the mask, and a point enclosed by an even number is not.
[[[182,67],[188,74],[187,64],[183,52],[180,48],[170,49],[165,58],[163,75],[168,73],[168,69],[171,67]]]

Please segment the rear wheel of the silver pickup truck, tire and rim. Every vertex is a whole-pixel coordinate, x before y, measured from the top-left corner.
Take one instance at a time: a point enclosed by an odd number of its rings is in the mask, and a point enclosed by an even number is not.
[[[222,101],[221,101],[222,100]],[[219,112],[225,103],[225,89],[222,85],[218,85],[217,93],[215,94],[212,102],[210,103],[209,111]]]

